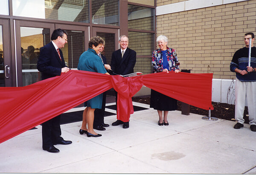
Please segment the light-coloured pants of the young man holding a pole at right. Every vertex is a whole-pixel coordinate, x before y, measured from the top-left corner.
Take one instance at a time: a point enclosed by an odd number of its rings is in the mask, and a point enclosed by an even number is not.
[[[244,106],[247,99],[249,124],[256,124],[256,82],[241,82],[236,78],[236,121],[244,123]]]

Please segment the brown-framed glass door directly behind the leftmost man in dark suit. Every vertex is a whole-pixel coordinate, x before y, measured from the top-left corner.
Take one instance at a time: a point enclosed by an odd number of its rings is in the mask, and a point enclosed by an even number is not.
[[[40,48],[48,44],[54,24],[15,21],[17,85],[26,86],[41,80],[37,70]]]

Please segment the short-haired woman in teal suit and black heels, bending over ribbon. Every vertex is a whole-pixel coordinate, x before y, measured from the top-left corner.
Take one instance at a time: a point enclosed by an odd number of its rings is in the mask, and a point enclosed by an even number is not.
[[[90,72],[98,72],[98,73],[107,73],[104,68],[104,64],[102,59],[97,55],[100,53],[102,47],[104,47],[105,41],[99,37],[92,37],[89,41],[89,49],[81,54],[78,63],[78,70],[82,71],[90,71]],[[87,106],[83,112],[83,121],[81,129],[79,130],[80,134],[87,134],[87,137],[100,137],[101,134],[97,134],[93,130],[93,120],[94,120],[94,110],[96,108],[102,108],[102,95],[99,94],[96,97],[88,100],[84,103],[84,106]],[[88,129],[87,129],[88,124]]]

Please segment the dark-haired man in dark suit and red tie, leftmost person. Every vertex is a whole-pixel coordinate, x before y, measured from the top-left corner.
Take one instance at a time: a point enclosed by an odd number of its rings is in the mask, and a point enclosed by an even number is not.
[[[42,80],[61,73],[67,73],[70,68],[65,65],[61,49],[67,43],[67,32],[58,28],[53,31],[52,42],[41,48],[37,68],[41,72]],[[42,124],[43,150],[48,152],[59,152],[55,144],[71,144],[72,141],[65,141],[61,137],[60,117],[56,116]]]

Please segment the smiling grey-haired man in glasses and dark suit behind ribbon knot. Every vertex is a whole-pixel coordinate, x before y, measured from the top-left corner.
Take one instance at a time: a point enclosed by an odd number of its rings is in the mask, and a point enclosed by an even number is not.
[[[127,36],[122,35],[119,38],[120,49],[114,51],[111,58],[111,68],[114,73],[119,75],[126,75],[129,73],[134,73],[134,65],[136,63],[136,52],[128,48],[129,39]],[[115,92],[116,93],[116,92]],[[117,100],[117,93],[116,93]],[[112,123],[113,126],[123,124],[123,128],[129,127],[129,121],[123,122],[117,120]]]

